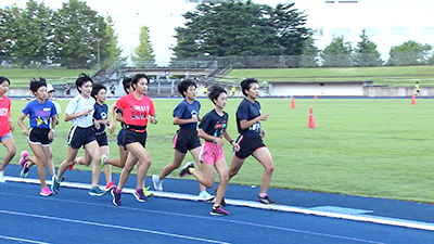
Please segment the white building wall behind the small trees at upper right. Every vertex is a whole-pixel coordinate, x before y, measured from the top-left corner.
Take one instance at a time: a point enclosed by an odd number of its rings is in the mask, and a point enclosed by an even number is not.
[[[362,29],[378,44],[384,61],[392,47],[413,40],[434,46],[433,0],[292,0],[305,11],[315,30],[316,47],[323,50],[333,37],[344,36],[355,48]],[[327,3],[334,2],[334,3]]]

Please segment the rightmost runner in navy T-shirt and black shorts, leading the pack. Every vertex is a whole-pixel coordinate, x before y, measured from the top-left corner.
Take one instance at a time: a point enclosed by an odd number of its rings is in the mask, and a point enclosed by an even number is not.
[[[267,195],[268,187],[271,182],[275,165],[271,154],[265,146],[263,138],[265,132],[260,121],[267,120],[269,114],[263,114],[260,104],[256,99],[259,97],[259,84],[256,79],[250,78],[241,82],[241,90],[245,98],[241,101],[237,110],[237,127],[240,133],[237,142],[240,144],[240,151],[235,152],[229,169],[229,179],[234,177],[240,170],[246,157],[253,155],[263,166],[263,184],[258,196],[259,203],[273,204]]]

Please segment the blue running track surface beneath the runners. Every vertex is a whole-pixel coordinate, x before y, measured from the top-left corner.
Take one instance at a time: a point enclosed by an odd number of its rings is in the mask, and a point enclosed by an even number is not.
[[[65,185],[60,194],[42,197],[39,184],[14,182],[22,180],[20,170],[9,165],[5,175],[11,181],[0,184],[0,243],[434,243],[434,231],[324,217],[417,221],[430,228],[434,223],[430,204],[270,190],[282,206],[324,213],[307,215],[257,208],[258,189],[230,184],[228,202],[245,200],[252,207],[230,204],[225,208],[229,216],[214,217],[208,214],[209,203],[170,197],[139,203],[123,193],[123,206],[115,207],[110,194],[95,197]],[[65,177],[66,182],[90,182],[88,171],[67,171]],[[36,179],[36,168],[28,178]],[[165,192],[197,193],[195,181],[166,179],[164,183]],[[131,176],[126,188],[135,185]]]

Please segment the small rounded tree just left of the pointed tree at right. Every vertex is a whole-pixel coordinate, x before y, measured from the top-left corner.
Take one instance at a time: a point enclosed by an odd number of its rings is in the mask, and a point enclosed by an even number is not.
[[[332,42],[321,53],[321,57],[324,67],[352,66],[352,44],[345,42],[344,37],[333,38]]]

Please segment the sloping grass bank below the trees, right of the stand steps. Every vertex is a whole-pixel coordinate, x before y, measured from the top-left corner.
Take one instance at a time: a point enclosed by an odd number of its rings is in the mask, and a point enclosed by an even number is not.
[[[226,78],[255,77],[260,81],[354,81],[371,80],[374,85],[434,86],[434,66],[384,66],[339,68],[257,68],[232,69]]]

